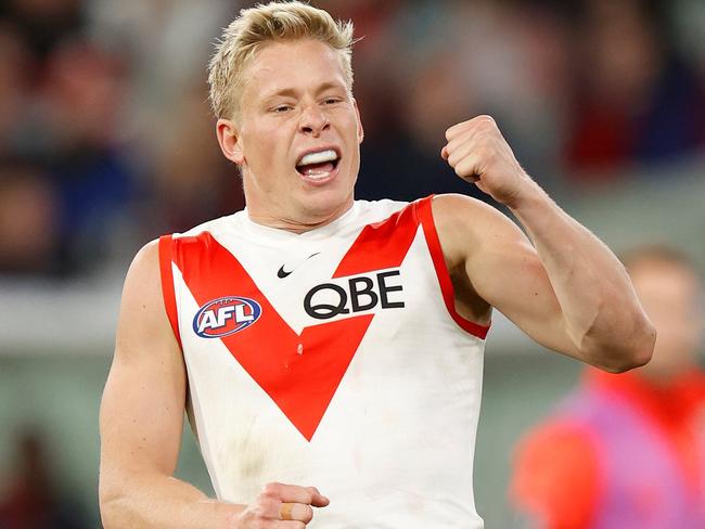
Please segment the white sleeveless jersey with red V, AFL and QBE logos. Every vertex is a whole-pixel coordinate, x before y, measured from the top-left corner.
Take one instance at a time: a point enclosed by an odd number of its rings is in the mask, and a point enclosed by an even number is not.
[[[190,418],[219,499],[330,498],[313,529],[479,529],[487,327],[460,317],[431,211],[355,202],[294,234],[240,211],[162,237]]]

